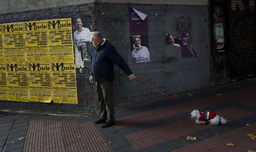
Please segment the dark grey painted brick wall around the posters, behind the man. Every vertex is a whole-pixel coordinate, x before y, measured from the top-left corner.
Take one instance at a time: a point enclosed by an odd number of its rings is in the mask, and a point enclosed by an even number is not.
[[[130,23],[128,8],[132,7],[148,18],[148,40],[150,62],[132,63],[130,48]],[[73,15],[90,15],[94,31],[100,31],[104,38],[116,47],[135,76],[156,87],[165,94],[172,95],[210,86],[209,23],[207,6],[183,5],[126,5],[89,4],[63,8],[51,8],[14,14],[0,15],[0,23],[32,20],[47,20]],[[190,21],[191,45],[197,52],[196,58],[184,58],[181,49],[165,46],[167,32],[177,34],[178,23],[183,18]],[[207,22],[205,22],[207,20]],[[175,36],[179,36],[178,34]],[[191,49],[191,45],[188,47]],[[89,55],[87,46],[85,55]],[[0,105],[52,108],[65,110],[94,110],[97,107],[95,84],[89,82],[90,62],[85,68],[76,69],[78,104],[20,103],[2,101]],[[127,103],[163,98],[164,95],[138,81],[131,81],[115,66],[114,103]]]

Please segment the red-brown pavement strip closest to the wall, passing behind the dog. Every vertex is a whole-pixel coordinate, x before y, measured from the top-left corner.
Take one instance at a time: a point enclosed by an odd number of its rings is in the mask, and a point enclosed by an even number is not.
[[[226,92],[221,96],[214,95],[214,96],[209,96],[209,97],[193,100],[190,102],[186,102],[185,104],[192,107],[193,109],[202,109],[202,108],[206,108],[209,106],[224,103],[224,102],[227,102],[230,100],[239,101],[243,104],[246,104],[247,101],[246,101],[246,103],[244,102],[244,100],[245,100],[244,96],[246,96],[246,100],[247,100],[247,97],[248,97],[248,100],[254,101],[253,99],[255,99],[255,95],[254,96],[251,95],[251,92],[248,92],[248,90],[255,91],[255,86]],[[243,94],[241,94],[241,92]],[[170,102],[177,102],[177,101],[173,101],[170,99]],[[253,104],[253,102],[249,102],[248,105],[255,107],[255,103]],[[172,105],[172,106],[159,108],[159,109],[155,109],[155,110],[151,110],[151,111],[146,111],[146,112],[142,112],[142,113],[138,113],[138,114],[129,115],[126,117],[116,118],[117,123],[115,126],[117,129],[122,129],[125,127],[136,126],[141,123],[161,119],[160,117],[167,118],[167,117],[171,117],[174,115],[178,115],[178,114],[182,114],[182,113],[190,112],[190,111],[191,111],[191,109],[186,107],[185,105],[177,104],[177,105]],[[149,118],[152,118],[152,120],[150,120]],[[138,119],[138,120],[135,120],[135,119]],[[144,119],[146,119],[146,121]],[[125,123],[125,125],[123,123]]]

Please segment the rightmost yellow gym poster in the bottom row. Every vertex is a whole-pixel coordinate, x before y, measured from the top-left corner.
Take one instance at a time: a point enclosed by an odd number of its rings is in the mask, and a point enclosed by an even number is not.
[[[51,63],[51,74],[53,102],[77,104],[75,63]]]

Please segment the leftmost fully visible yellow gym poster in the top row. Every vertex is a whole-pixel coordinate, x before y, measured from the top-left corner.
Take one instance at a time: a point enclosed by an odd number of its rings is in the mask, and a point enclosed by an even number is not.
[[[5,63],[26,62],[23,23],[2,24]]]

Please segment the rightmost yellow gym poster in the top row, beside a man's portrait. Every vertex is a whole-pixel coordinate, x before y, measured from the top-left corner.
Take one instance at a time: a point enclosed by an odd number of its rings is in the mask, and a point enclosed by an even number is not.
[[[50,62],[74,61],[71,18],[47,20]]]

